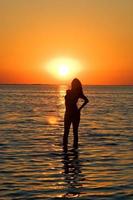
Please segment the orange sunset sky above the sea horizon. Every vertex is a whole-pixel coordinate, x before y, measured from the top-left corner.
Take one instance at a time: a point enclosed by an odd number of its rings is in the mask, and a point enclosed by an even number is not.
[[[133,0],[0,0],[0,55],[0,83],[133,84]]]

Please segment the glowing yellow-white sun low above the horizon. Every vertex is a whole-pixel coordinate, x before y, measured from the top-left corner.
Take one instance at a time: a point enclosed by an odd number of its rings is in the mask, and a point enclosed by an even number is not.
[[[80,62],[74,58],[54,58],[46,63],[47,72],[60,80],[69,80],[75,77],[80,69]]]

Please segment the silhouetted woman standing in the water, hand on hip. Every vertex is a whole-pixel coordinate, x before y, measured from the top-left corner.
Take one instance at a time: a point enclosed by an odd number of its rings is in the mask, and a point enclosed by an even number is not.
[[[78,108],[77,102],[81,98],[84,103]],[[71,90],[66,91],[65,96],[65,116],[64,116],[64,137],[63,145],[67,147],[68,135],[71,124],[73,125],[74,147],[78,147],[78,127],[80,122],[80,111],[88,103],[87,97],[83,94],[81,82],[75,78],[71,83]]]

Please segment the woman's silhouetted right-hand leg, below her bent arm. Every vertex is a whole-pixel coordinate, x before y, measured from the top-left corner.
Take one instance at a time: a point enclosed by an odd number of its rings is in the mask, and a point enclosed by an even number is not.
[[[79,127],[79,122],[80,122],[80,113],[77,114],[76,117],[73,119],[73,134],[74,134],[74,141],[73,141],[73,146],[74,148],[78,148],[78,127]]]

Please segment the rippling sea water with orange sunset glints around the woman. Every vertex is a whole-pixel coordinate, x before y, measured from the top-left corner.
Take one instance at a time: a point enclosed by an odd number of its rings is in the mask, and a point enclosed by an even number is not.
[[[65,86],[0,86],[0,200],[133,199],[133,87],[84,87],[62,150]]]

